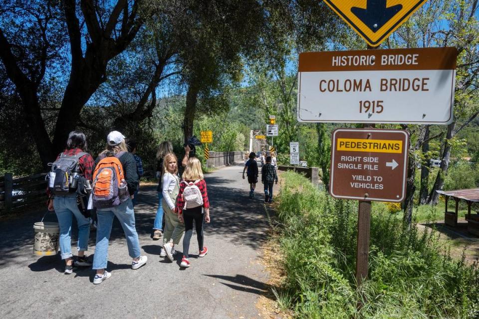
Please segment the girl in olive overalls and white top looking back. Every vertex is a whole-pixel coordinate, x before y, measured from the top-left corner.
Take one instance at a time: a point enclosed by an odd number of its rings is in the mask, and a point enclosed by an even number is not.
[[[178,219],[175,212],[176,198],[180,191],[180,178],[178,177],[178,163],[176,155],[167,154],[163,159],[162,176],[162,206],[165,219],[165,229],[163,232],[163,249],[160,257],[168,257],[173,261],[173,255],[176,254],[175,245],[180,242],[181,236],[185,232],[185,227]]]

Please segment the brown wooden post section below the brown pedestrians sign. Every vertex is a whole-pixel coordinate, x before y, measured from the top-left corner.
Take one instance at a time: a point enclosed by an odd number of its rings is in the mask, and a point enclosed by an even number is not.
[[[358,240],[356,254],[356,282],[359,288],[368,277],[369,229],[371,221],[371,202],[359,201]]]

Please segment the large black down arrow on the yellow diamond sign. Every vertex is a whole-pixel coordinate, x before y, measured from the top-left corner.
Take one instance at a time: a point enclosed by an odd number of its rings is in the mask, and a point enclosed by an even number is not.
[[[402,8],[402,4],[386,7],[386,0],[367,0],[365,9],[353,6],[351,12],[376,32]]]

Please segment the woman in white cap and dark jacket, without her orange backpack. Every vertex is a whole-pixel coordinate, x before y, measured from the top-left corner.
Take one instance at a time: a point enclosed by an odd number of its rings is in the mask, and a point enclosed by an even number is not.
[[[111,276],[111,273],[107,272],[105,268],[108,263],[108,242],[110,239],[113,218],[115,216],[120,221],[120,225],[125,232],[128,253],[130,257],[133,258],[131,268],[140,268],[146,264],[148,259],[147,256],[141,256],[140,242],[135,228],[135,213],[133,210],[132,199],[138,188],[139,180],[135,158],[133,157],[133,154],[128,153],[125,137],[120,132],[110,132],[107,137],[107,144],[106,150],[100,153],[95,160],[95,165],[105,157],[117,156],[123,167],[124,178],[128,185],[130,198],[118,206],[112,208],[99,208],[97,210],[98,224],[96,230],[95,255],[93,258],[93,269],[96,270],[96,275],[93,278],[93,284],[100,284]]]

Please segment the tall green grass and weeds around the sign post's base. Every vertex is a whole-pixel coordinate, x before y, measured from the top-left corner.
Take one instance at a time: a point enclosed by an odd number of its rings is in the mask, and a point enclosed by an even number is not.
[[[435,231],[403,227],[383,203],[372,206],[369,278],[357,291],[357,203],[332,199],[299,174],[283,177],[278,219],[287,275],[275,295],[296,318],[479,315],[476,265],[453,260]]]

